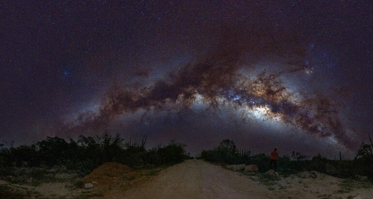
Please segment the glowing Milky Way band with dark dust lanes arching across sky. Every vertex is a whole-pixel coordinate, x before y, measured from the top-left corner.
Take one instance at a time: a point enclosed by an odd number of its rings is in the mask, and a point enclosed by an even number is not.
[[[226,44],[226,43],[225,43]],[[303,65],[288,65],[286,70],[251,76],[240,74],[243,67],[240,58],[244,47],[236,43],[219,46],[203,54],[195,62],[188,63],[179,71],[170,74],[169,81],[158,81],[150,87],[129,90],[115,86],[101,100],[96,113],[79,115],[67,122],[62,131],[84,132],[89,129],[103,129],[122,114],[133,114],[141,110],[177,110],[183,112],[197,97],[209,103],[209,109],[218,109],[227,104],[236,111],[262,110],[266,118],[279,118],[280,122],[318,137],[333,137],[347,148],[356,143],[345,133],[337,107],[323,94],[312,93],[295,97],[279,80],[288,73],[301,73]],[[171,107],[171,108],[170,108]],[[245,111],[243,111],[245,115]],[[238,119],[245,122],[245,116]]]

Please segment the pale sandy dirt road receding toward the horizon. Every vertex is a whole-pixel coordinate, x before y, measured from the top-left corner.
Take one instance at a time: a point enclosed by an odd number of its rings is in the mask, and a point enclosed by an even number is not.
[[[262,189],[263,188],[263,189]],[[247,176],[202,160],[187,160],[163,170],[154,179],[118,197],[107,198],[277,198],[268,195],[267,188]]]

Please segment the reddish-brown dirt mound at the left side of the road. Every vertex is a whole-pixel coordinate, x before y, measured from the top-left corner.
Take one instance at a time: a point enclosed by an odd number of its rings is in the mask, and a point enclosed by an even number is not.
[[[114,179],[122,178],[125,173],[131,170],[130,167],[119,163],[104,163],[84,177],[83,182],[89,183],[95,181],[98,182],[98,185],[104,185]]]

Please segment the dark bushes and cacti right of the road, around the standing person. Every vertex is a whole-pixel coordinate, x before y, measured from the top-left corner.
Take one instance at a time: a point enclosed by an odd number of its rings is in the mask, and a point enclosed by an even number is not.
[[[232,140],[223,140],[216,149],[203,150],[200,158],[219,164],[254,164],[261,172],[269,170],[267,154],[251,155],[249,150],[238,150]],[[320,154],[310,159],[299,152],[293,152],[291,156],[281,156],[278,165],[282,174],[318,171],[341,178],[367,176],[373,181],[373,145],[362,143],[353,160],[330,160]]]

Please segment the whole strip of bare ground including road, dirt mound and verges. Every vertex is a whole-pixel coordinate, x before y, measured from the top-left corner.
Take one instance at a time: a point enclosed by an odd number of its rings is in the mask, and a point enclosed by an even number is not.
[[[114,169],[115,170],[115,169]],[[372,182],[331,177],[316,171],[268,177],[263,173],[234,172],[203,160],[156,169],[95,172],[85,181],[93,189],[74,188],[71,181],[38,186],[0,181],[11,190],[41,199],[373,199]],[[60,174],[59,174],[60,175]],[[14,198],[14,197],[13,197]]]

